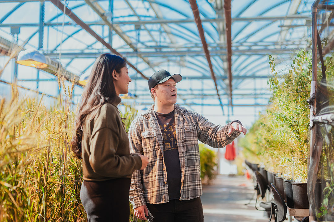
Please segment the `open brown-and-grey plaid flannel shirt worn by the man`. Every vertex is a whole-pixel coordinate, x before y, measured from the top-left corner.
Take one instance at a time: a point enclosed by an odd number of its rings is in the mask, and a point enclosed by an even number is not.
[[[148,157],[144,170],[135,170],[131,178],[130,201],[133,208],[146,203],[169,201],[167,172],[163,157],[163,138],[152,105],[137,116],[129,129],[130,153]],[[201,165],[198,140],[211,147],[221,148],[231,143],[240,132],[228,135],[228,128],[214,125],[202,115],[174,105],[175,131],[181,167],[180,200],[190,200],[202,195]],[[235,122],[235,121],[233,121]],[[241,123],[236,120],[236,122]]]

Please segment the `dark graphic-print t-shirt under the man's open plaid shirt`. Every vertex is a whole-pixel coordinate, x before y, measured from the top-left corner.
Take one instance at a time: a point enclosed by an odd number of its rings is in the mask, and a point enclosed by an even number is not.
[[[181,196],[181,168],[177,149],[174,110],[163,114],[155,112],[164,141],[164,161],[167,171],[168,196],[170,200]]]

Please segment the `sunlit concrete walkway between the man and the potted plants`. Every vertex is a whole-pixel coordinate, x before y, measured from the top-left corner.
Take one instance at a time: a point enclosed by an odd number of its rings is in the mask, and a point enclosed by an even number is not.
[[[204,222],[267,222],[263,211],[255,209],[254,185],[244,176],[218,175],[211,185],[203,185],[201,196]],[[259,202],[257,204],[259,207]]]

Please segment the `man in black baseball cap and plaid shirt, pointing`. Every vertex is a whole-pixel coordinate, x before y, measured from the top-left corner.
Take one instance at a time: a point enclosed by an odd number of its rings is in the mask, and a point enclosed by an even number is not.
[[[221,148],[247,131],[238,120],[215,125],[178,106],[181,80],[180,74],[155,72],[148,81],[154,104],[129,129],[130,152],[149,159],[144,170],[135,170],[130,187],[135,215],[142,220],[149,210],[155,222],[203,222],[198,140]]]

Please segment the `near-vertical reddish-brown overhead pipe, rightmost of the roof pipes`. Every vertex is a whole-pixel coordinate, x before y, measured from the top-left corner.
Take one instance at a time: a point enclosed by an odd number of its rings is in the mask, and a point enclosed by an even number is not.
[[[225,36],[227,50],[227,78],[229,89],[229,105],[232,107],[232,37],[231,37],[231,0],[224,0]]]

